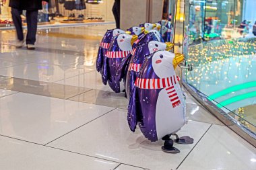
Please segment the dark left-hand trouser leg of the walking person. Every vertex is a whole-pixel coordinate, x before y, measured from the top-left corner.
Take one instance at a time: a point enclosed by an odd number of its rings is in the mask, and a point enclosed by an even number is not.
[[[11,17],[16,28],[17,38],[19,41],[23,41],[22,17],[20,17],[20,15],[22,15],[22,10],[11,8]]]

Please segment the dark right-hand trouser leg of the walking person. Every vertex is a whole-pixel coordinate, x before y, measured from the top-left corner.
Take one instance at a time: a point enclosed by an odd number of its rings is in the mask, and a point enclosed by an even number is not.
[[[36,11],[26,11],[26,19],[28,25],[28,33],[26,37],[26,44],[32,44],[36,42],[36,30],[38,22],[38,10]]]

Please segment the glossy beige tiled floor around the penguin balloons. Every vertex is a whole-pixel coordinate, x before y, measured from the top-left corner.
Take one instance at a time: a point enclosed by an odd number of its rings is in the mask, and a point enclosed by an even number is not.
[[[0,169],[256,169],[256,148],[186,93],[194,144],[161,151],[126,121],[127,99],[102,85],[97,46],[113,25],[40,30],[36,50],[0,32]],[[48,34],[46,32],[49,32]]]

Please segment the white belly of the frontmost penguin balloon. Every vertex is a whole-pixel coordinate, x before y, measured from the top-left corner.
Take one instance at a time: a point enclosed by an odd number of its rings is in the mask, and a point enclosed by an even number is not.
[[[156,103],[156,132],[158,139],[177,132],[187,122],[185,116],[186,108],[181,88],[178,85],[174,85],[177,96],[181,103],[173,107],[172,101],[170,101],[170,94],[166,89],[162,89],[158,95],[158,101]]]

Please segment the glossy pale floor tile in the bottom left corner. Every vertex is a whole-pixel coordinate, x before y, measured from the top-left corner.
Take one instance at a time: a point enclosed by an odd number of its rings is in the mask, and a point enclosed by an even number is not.
[[[3,136],[0,136],[0,145],[0,167],[5,170],[110,170],[119,165]]]

